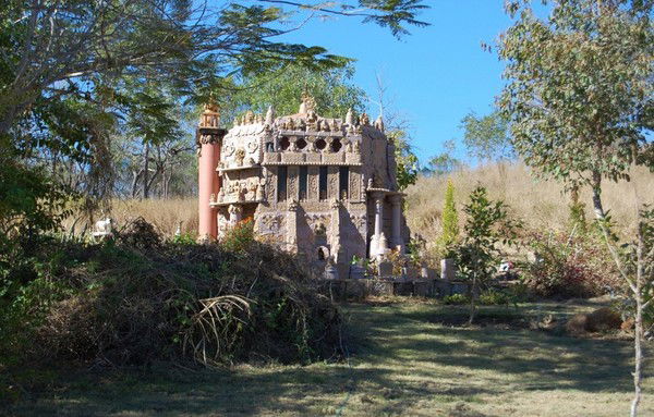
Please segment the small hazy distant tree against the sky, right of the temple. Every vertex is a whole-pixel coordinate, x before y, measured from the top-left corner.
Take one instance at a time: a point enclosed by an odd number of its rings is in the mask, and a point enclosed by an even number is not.
[[[461,120],[460,127],[464,131],[463,145],[470,157],[482,162],[512,158],[508,122],[499,111],[483,116],[470,112]]]

